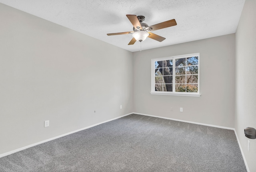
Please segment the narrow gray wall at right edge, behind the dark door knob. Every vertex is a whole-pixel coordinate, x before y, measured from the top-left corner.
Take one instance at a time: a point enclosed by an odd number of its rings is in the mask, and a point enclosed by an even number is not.
[[[256,172],[256,139],[244,136],[244,128],[256,128],[256,1],[246,0],[236,31],[235,129],[249,166]],[[250,152],[247,149],[250,140]]]

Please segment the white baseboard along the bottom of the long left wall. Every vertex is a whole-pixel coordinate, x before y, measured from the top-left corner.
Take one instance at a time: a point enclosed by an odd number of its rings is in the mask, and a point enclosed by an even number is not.
[[[133,113],[130,113],[130,114],[133,114]],[[37,143],[34,143],[34,144],[30,144],[30,145],[28,145],[28,146],[24,146],[24,147],[22,147],[22,148],[18,148],[18,149],[16,149],[16,150],[12,150],[12,151],[6,152],[6,153],[4,153],[4,154],[0,154],[0,158],[1,158],[1,157],[4,157],[4,156],[7,156],[7,155],[10,155],[10,154],[13,154],[13,153],[15,153],[15,152],[19,152],[19,151],[21,151],[21,150],[30,148],[30,147],[32,147],[32,146],[36,146],[36,145],[38,145],[38,144],[42,144],[42,143],[44,143],[44,142],[48,142],[48,141],[54,140],[54,139],[56,139],[56,138],[60,138],[60,137],[63,137],[63,136],[67,136],[67,135],[69,135],[69,134],[73,134],[73,133],[75,133],[75,132],[79,132],[79,131],[85,130],[85,129],[87,129],[87,128],[91,128],[91,127],[94,127],[94,126],[103,124],[103,123],[105,123],[105,122],[110,122],[110,121],[112,121],[112,120],[116,120],[116,119],[118,119],[118,118],[122,118],[122,117],[124,117],[124,116],[128,116],[128,115],[130,115],[130,114],[126,114],[126,115],[123,115],[123,116],[118,116],[118,117],[116,117],[116,118],[113,118],[113,119],[110,119],[110,120],[106,120],[106,121],[104,121],[104,122],[100,122],[100,123],[98,123],[98,124],[94,124],[94,125],[91,125],[91,126],[88,126],[88,127],[85,127],[85,128],[81,128],[81,129],[78,129],[78,130],[75,130],[75,131],[72,131],[72,132],[68,132],[68,133],[66,133],[66,134],[62,134],[62,135],[60,135],[60,136],[56,136],[56,137],[53,137],[53,138],[49,138],[49,139],[43,140],[43,141],[41,141],[41,142],[37,142]]]

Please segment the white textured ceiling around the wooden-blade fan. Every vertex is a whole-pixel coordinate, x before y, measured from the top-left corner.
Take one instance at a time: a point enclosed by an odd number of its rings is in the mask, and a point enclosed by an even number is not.
[[[245,0],[0,0],[34,16],[92,36],[131,52],[133,31],[126,14],[145,16],[148,26],[175,19],[176,26],[152,31],[166,40],[147,38],[142,50],[211,38],[236,32]]]

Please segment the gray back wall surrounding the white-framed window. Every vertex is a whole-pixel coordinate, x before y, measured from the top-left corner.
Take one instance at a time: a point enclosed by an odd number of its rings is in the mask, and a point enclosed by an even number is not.
[[[152,58],[197,52],[200,97],[150,94]],[[234,34],[135,52],[133,63],[134,112],[234,128]]]

